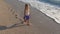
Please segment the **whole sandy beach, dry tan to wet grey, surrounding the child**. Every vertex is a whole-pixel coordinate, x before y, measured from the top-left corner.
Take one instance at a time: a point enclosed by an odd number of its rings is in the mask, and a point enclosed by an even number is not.
[[[24,5],[18,0],[0,0],[0,34],[60,34],[60,24],[32,6],[32,26],[22,25],[18,18],[23,18]]]

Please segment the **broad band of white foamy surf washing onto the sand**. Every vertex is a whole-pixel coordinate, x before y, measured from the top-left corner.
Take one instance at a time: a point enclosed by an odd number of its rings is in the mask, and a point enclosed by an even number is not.
[[[19,0],[25,3],[29,3],[31,6],[37,8],[41,12],[45,13],[47,16],[53,18],[57,23],[60,24],[60,7],[50,5],[48,3],[34,1],[34,0]]]

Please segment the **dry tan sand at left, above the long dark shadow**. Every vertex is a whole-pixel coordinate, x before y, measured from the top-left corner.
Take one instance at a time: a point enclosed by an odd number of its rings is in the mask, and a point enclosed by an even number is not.
[[[15,19],[14,9],[5,3],[3,0],[0,0],[0,25],[8,25],[17,22]]]

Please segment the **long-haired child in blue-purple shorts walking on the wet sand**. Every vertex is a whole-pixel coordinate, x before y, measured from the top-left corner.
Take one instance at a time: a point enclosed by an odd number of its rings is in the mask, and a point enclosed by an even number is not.
[[[29,18],[30,18],[29,4],[25,4],[25,10],[24,10],[24,24],[26,24],[26,25],[31,25],[31,24],[29,23]]]

